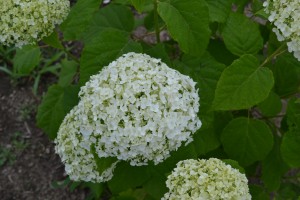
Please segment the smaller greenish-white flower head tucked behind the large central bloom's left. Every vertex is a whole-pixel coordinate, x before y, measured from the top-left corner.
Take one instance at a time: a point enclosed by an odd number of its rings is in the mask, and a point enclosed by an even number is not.
[[[108,167],[102,174],[97,170],[97,164],[91,152],[91,141],[86,140],[80,133],[81,119],[77,116],[78,107],[75,106],[65,117],[55,139],[55,151],[65,164],[65,171],[71,180],[104,182],[113,176],[117,162]]]

